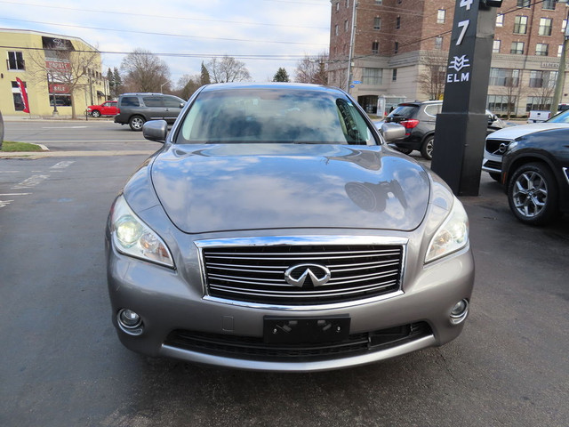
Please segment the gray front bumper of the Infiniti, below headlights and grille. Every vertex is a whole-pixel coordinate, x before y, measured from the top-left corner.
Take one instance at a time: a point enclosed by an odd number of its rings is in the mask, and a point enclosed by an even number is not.
[[[405,272],[402,290],[379,301],[291,310],[204,298],[198,263],[170,270],[118,254],[108,242],[107,256],[112,318],[124,346],[149,356],[263,371],[308,372],[355,367],[442,345],[461,333],[463,324],[453,325],[450,312],[456,302],[469,300],[474,282],[474,262],[466,247],[421,266],[419,272],[416,268]],[[121,309],[140,314],[142,334],[129,334],[118,325],[116,315]],[[354,351],[315,353],[309,348],[308,352],[295,353],[290,351],[295,350],[293,345],[285,349],[286,355],[275,353],[273,347],[263,342],[264,320],[275,316],[291,319],[347,316],[350,339],[361,335],[364,342],[369,342]],[[426,326],[421,334],[373,345],[376,331],[417,324]],[[171,339],[173,331],[204,338],[197,344],[184,345]],[[260,350],[241,352],[239,345],[221,345],[223,338],[228,342],[252,342],[252,347],[259,346]]]

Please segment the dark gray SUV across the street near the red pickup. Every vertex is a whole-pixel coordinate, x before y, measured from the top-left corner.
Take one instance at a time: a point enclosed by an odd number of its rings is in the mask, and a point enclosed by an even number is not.
[[[176,121],[186,101],[162,93],[123,93],[118,97],[118,114],[115,123],[130,125],[133,131],[141,131],[148,120]]]

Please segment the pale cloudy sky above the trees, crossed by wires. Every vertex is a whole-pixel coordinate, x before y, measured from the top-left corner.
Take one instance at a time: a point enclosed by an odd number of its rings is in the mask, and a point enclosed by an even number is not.
[[[291,79],[298,60],[327,52],[329,0],[74,0],[0,1],[0,28],[76,36],[103,52],[103,73],[124,53],[160,53],[172,84],[195,75],[212,55],[245,63],[252,79],[272,80],[279,67]],[[177,55],[177,56],[170,56]],[[182,56],[186,55],[186,56]]]

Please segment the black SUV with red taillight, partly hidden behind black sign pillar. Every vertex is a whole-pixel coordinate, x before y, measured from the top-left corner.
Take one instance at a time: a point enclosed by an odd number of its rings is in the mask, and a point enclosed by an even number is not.
[[[433,158],[435,144],[435,123],[437,114],[443,108],[443,101],[413,101],[403,102],[391,111],[386,122],[395,122],[405,126],[405,139],[395,141],[399,151],[409,154],[413,149],[421,151],[422,157]],[[506,127],[495,114],[486,110],[488,117],[488,132],[492,133]]]

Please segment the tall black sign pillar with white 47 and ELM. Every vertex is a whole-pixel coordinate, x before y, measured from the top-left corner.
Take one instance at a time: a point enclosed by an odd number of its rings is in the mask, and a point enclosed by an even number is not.
[[[488,119],[486,94],[499,0],[456,0],[431,168],[457,196],[477,196]]]

